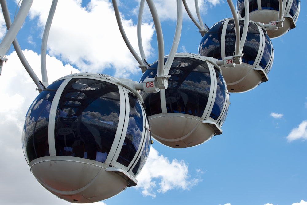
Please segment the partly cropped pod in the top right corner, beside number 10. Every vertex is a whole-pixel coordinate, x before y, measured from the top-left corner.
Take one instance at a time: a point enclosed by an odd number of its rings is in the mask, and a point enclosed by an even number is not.
[[[249,11],[250,20],[254,22],[269,24],[269,22],[277,21],[279,11],[278,0],[249,0]],[[267,34],[270,38],[280,37],[296,27],[295,23],[300,13],[300,1],[287,0],[284,12],[285,20],[283,21],[283,27],[279,27],[277,30],[267,29]],[[244,0],[237,0],[237,13],[239,17],[244,18]]]

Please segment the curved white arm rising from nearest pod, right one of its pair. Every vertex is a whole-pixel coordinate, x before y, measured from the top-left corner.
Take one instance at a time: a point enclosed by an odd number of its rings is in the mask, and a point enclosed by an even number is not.
[[[48,84],[48,76],[47,76],[47,67],[46,67],[46,48],[47,48],[47,41],[49,36],[49,31],[52,23],[52,19],[54,16],[54,12],[56,10],[58,0],[52,0],[52,4],[50,7],[50,11],[48,14],[47,22],[45,25],[43,38],[41,41],[41,77],[43,80],[43,84],[47,87]]]

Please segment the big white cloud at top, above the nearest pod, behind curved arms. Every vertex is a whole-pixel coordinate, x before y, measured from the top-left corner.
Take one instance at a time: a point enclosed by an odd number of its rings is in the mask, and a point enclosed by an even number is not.
[[[43,30],[49,7],[47,1],[34,1],[31,17]],[[48,1],[51,3],[51,1]],[[106,0],[92,0],[87,8],[80,1],[59,1],[48,37],[48,53],[76,65],[81,71],[99,72],[112,68],[115,77],[128,78],[140,73],[116,23],[113,6]],[[69,9],[67,9],[69,8]],[[107,19],[107,20],[106,20]],[[137,26],[131,20],[122,20],[126,35],[138,52]],[[153,55],[150,45],[154,33],[152,23],[142,26],[142,41],[146,57]]]

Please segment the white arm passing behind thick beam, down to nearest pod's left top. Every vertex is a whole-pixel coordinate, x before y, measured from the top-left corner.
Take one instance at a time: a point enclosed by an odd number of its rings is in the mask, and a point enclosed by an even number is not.
[[[4,20],[5,20],[5,23],[6,23],[6,27],[7,27],[7,29],[9,29],[10,26],[11,26],[11,19],[10,19],[9,10],[7,9],[6,1],[0,0],[0,4],[1,4]],[[26,58],[25,58],[24,54],[22,53],[21,48],[20,48],[16,38],[13,41],[13,46],[15,48],[15,51],[16,51],[22,65],[25,67],[26,71],[29,73],[30,77],[32,78],[34,83],[37,85],[38,90],[39,91],[44,90],[45,89],[44,85],[41,83],[41,81],[39,80],[39,78],[34,73],[33,69],[31,68],[31,66],[29,65],[28,61],[26,60]]]

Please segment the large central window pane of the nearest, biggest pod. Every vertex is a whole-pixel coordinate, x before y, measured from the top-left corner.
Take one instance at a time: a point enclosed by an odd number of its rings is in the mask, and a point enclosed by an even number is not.
[[[105,162],[119,121],[117,85],[72,79],[59,101],[55,123],[56,155]]]

